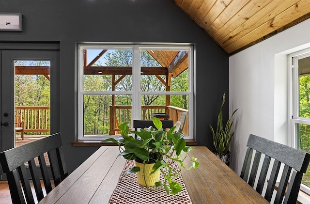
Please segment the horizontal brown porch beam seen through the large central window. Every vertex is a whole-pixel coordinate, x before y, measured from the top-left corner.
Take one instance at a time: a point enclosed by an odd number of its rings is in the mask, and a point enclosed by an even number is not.
[[[167,75],[166,67],[141,67],[141,75]],[[84,66],[84,75],[132,75],[132,67]]]

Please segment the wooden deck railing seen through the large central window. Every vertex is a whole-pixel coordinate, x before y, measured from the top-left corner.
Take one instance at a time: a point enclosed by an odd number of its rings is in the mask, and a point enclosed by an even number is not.
[[[117,127],[124,122],[131,122],[131,109],[131,106],[110,106],[109,135],[120,134],[120,130]],[[152,113],[168,113],[169,120],[173,120],[175,124],[179,120],[181,112],[188,112],[188,110],[174,106],[141,106],[141,119],[151,120]],[[188,135],[187,117],[183,132],[185,132],[185,135]]]

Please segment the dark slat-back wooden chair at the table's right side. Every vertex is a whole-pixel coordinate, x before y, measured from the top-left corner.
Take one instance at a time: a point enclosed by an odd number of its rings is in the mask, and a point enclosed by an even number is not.
[[[283,204],[295,204],[303,173],[306,173],[309,165],[310,155],[304,151],[252,134],[249,135],[247,146],[248,149],[243,163],[241,177],[248,182],[249,185],[254,187],[255,180],[257,180],[258,167],[261,166],[256,191],[262,194],[268,169],[271,168],[270,161],[273,160],[273,166],[272,169],[270,169],[270,177],[264,198],[268,202],[271,201],[279,174],[281,178],[274,204],[282,204],[282,202]],[[255,152],[254,159],[252,159],[253,152]],[[262,154],[264,159],[263,163],[260,165]],[[253,162],[251,162],[252,160]],[[284,168],[283,172],[279,173],[281,163],[283,163],[282,166],[284,166]]]

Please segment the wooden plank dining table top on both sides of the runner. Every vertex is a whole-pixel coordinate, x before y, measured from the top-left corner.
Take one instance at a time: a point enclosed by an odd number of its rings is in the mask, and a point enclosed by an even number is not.
[[[100,147],[39,204],[108,204],[126,162],[119,153],[116,146]],[[181,172],[192,204],[268,203],[208,148],[196,146],[189,155],[200,163]]]

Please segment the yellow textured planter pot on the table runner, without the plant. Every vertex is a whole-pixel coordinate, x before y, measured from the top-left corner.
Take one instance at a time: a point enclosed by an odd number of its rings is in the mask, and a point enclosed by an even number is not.
[[[146,186],[144,182],[144,177],[142,176],[143,175],[143,163],[136,161],[136,166],[140,167],[140,172],[137,172],[138,183],[142,186]],[[154,164],[144,165],[144,172],[145,172],[144,175],[145,175],[145,180],[146,180],[148,187],[155,186],[155,182],[159,181],[159,173],[160,173],[159,170],[151,175],[153,166]]]

